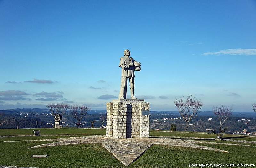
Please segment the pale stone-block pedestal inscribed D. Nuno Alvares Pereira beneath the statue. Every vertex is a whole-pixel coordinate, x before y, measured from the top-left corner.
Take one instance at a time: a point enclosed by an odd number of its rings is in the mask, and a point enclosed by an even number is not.
[[[149,103],[144,99],[117,99],[107,103],[107,137],[149,137]]]

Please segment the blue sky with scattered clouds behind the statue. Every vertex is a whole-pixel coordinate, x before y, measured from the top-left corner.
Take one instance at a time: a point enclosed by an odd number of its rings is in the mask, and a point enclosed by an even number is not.
[[[0,0],[0,109],[55,102],[106,109],[124,49],[135,96],[176,110],[192,95],[233,111],[256,101],[256,1]]]

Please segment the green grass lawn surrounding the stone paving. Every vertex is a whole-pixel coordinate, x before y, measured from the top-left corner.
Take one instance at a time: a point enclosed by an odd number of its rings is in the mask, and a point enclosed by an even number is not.
[[[33,129],[0,129],[0,136],[7,135],[32,135]],[[67,135],[104,135],[105,129],[38,129],[44,136],[25,136],[0,138],[1,141],[27,140],[31,139],[54,139],[68,137]],[[58,135],[58,136],[50,136]],[[214,138],[214,134],[203,133],[185,133],[170,131],[151,131],[151,136],[179,136],[179,137],[204,137]],[[224,135],[228,139],[251,140],[256,141],[256,137]],[[53,141],[52,141],[53,142]],[[250,146],[231,146],[225,145],[228,141],[221,141],[221,144],[204,144],[200,145],[218,148],[228,151],[229,153],[216,152],[212,150],[201,150],[186,147],[175,147],[165,145],[152,145],[137,160],[128,167],[144,168],[144,167],[189,167],[193,164],[200,167],[201,164],[236,164],[234,167],[250,167],[242,166],[243,164],[254,164],[256,167],[256,147]],[[217,142],[217,141],[212,141]],[[0,165],[20,166],[20,167],[44,167],[44,168],[84,168],[84,167],[125,167],[111,153],[109,153],[100,143],[86,143],[76,145],[50,146],[44,148],[32,148],[39,144],[49,143],[40,142],[0,142]],[[232,142],[236,143],[236,142]],[[198,143],[199,144],[199,143]],[[237,143],[245,144],[245,143]],[[247,143],[246,143],[247,144]],[[250,144],[247,144],[250,145]],[[255,144],[252,144],[255,145]],[[48,154],[46,158],[31,158],[32,155]],[[239,165],[240,164],[240,165]],[[192,165],[190,165],[192,167]]]

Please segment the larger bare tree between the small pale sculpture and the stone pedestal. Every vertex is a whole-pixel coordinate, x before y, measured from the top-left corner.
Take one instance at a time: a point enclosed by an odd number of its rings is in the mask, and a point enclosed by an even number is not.
[[[77,128],[79,128],[80,120],[84,118],[88,111],[91,110],[90,107],[77,105],[70,106],[68,109],[73,117],[77,120]]]

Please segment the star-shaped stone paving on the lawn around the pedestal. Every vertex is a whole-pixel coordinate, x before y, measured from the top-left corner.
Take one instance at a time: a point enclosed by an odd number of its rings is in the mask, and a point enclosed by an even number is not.
[[[204,149],[204,150],[214,150],[218,152],[227,152],[227,151],[211,148],[203,145],[197,145],[194,143],[239,145],[239,144],[231,144],[231,143],[216,143],[216,142],[204,142],[204,141],[195,141],[195,140],[188,140],[188,139],[171,139],[171,138],[115,139],[115,138],[110,138],[106,136],[85,136],[85,137],[62,138],[62,139],[59,139],[58,142],[41,144],[38,146],[34,146],[32,148],[55,146],[55,145],[81,144],[81,143],[101,143],[102,146],[104,146],[109,152],[111,152],[125,166],[128,166],[135,159],[140,157],[140,155],[143,154],[143,152],[147,150],[152,144],[198,148],[198,149]],[[241,145],[241,146],[250,146],[250,145]],[[255,147],[255,146],[252,146],[252,147]]]

